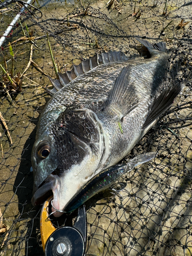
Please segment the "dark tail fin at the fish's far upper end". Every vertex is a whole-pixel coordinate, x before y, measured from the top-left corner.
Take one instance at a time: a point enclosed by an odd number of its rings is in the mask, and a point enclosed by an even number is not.
[[[159,52],[167,53],[166,45],[164,42],[157,42],[155,44],[151,44],[150,42],[136,38],[142,46],[136,46],[135,49],[139,52],[140,55],[150,58],[154,54],[154,50]]]

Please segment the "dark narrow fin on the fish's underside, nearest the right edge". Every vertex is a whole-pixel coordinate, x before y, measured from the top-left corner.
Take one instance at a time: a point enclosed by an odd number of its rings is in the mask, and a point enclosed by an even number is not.
[[[148,114],[145,122],[143,123],[142,129],[146,129],[150,124],[152,124],[161,114],[163,114],[170,106],[174,103],[174,99],[182,91],[181,83],[177,83],[172,90],[163,91],[159,97],[155,98],[151,111]]]

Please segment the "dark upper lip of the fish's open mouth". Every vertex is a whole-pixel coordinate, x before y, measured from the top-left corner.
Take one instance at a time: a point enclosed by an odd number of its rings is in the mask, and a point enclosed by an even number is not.
[[[60,183],[60,178],[57,175],[50,174],[42,185],[36,191],[33,191],[32,205],[44,203],[49,196],[53,195],[53,191],[60,187]]]

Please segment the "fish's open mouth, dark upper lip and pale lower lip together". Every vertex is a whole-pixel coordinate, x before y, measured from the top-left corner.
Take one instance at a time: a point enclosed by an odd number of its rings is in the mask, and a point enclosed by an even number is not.
[[[61,181],[58,175],[50,174],[47,179],[39,186],[39,188],[35,191],[32,197],[32,205],[39,205],[44,203],[48,197],[53,195],[53,207],[52,212],[55,212],[53,215],[55,217],[59,217],[61,215],[60,212],[57,212],[59,206],[59,191],[61,187]]]

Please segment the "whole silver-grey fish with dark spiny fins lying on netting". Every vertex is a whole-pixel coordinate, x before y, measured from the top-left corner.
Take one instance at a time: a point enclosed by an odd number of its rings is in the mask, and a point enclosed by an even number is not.
[[[59,217],[77,191],[122,160],[174,102],[182,84],[169,84],[164,42],[136,38],[144,58],[96,54],[58,79],[42,111],[32,149],[32,204],[53,194]]]

